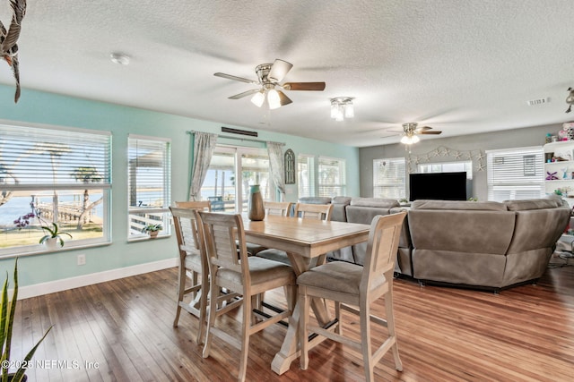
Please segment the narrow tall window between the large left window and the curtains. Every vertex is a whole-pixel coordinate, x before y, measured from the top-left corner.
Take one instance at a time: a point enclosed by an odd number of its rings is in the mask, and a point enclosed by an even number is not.
[[[161,224],[171,233],[170,140],[130,135],[127,139],[128,239],[142,238],[143,227]]]

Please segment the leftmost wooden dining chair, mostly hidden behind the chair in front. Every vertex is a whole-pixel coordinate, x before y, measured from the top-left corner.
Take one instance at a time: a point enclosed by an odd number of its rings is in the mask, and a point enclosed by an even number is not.
[[[203,239],[203,229],[197,225],[194,210],[211,210],[207,201],[176,201],[170,207],[178,240],[178,309],[173,327],[178,327],[179,315],[183,308],[199,318],[196,344],[202,344],[204,336],[205,310],[209,291],[209,268]],[[187,286],[187,279],[190,285]],[[185,301],[190,295],[190,301]]]

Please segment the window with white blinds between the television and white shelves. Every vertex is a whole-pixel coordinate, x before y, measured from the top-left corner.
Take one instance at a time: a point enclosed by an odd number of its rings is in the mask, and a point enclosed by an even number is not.
[[[544,152],[540,147],[486,152],[488,199],[531,199],[544,196]]]

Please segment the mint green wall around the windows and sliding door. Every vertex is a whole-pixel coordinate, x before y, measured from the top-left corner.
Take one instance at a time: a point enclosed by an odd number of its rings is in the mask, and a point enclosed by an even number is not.
[[[80,98],[70,98],[41,91],[22,89],[22,97],[13,104],[13,87],[0,85],[0,120],[15,123],[41,123],[112,132],[112,244],[82,250],[31,255],[19,259],[22,286],[39,284],[110,269],[130,267],[162,259],[175,258],[176,242],[172,236],[154,241],[127,242],[126,144],[129,133],[171,139],[172,200],[187,199],[189,185],[189,130],[221,132],[222,123],[207,122],[178,115],[117,106]],[[228,125],[241,129],[241,126]],[[248,129],[252,130],[252,129]],[[359,149],[296,136],[259,132],[258,140],[285,143],[295,154],[339,157],[346,160],[347,195],[359,196]],[[226,140],[241,145],[239,140]],[[291,187],[287,199],[297,199]],[[0,214],[2,209],[0,208]],[[76,256],[86,255],[86,265],[77,266]],[[0,260],[0,271],[12,273],[13,259]]]

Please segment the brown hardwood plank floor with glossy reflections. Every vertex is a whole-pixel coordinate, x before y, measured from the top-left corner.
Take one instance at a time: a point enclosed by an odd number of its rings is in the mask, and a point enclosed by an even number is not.
[[[182,313],[172,327],[176,279],[172,268],[19,301],[11,358],[22,360],[54,325],[28,370],[30,382],[234,380],[239,350],[215,338],[211,357],[203,359],[193,340],[197,319]],[[572,380],[574,267],[549,267],[537,285],[498,295],[403,279],[394,285],[404,370],[396,371],[387,353],[375,369],[378,380]],[[283,301],[279,292],[265,298]],[[238,313],[220,327],[239,330]],[[347,330],[355,330],[348,319]],[[363,379],[361,358],[328,341],[309,352],[308,370],[296,360],[277,376],[270,364],[284,333],[275,325],[252,336],[248,380]]]

